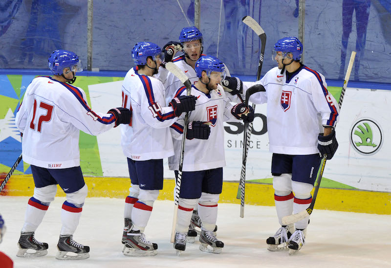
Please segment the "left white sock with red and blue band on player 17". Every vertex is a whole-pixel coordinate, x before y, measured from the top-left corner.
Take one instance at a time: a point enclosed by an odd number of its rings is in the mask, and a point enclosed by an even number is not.
[[[26,214],[24,216],[24,225],[22,232],[32,232],[36,231],[38,226],[43,220],[47,209],[49,208],[49,203],[43,203],[34,197],[31,197],[28,200]]]

